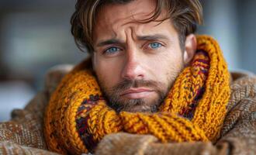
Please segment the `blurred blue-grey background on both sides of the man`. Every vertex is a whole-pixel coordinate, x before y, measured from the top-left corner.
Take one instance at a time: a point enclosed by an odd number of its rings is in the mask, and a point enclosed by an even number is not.
[[[201,0],[198,33],[219,41],[230,70],[256,73],[256,0]],[[46,71],[87,57],[70,33],[74,0],[0,0],[0,122],[43,89]]]

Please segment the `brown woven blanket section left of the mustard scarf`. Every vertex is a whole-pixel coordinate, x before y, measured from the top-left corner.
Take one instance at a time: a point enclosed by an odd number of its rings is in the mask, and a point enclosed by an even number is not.
[[[44,90],[26,108],[13,110],[9,122],[0,123],[0,154],[55,154],[47,151],[43,138],[43,113],[51,93],[71,67],[65,65],[48,71]]]

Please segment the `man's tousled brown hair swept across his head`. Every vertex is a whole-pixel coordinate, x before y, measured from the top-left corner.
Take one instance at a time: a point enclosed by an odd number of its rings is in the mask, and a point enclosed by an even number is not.
[[[87,49],[93,51],[92,31],[95,26],[96,15],[100,7],[106,4],[126,4],[134,0],[78,0],[75,5],[75,12],[71,17],[71,33],[75,43],[82,51]],[[197,24],[202,24],[202,5],[199,0],[155,0],[156,8],[150,18],[140,22],[156,21],[163,9],[171,19],[175,29],[178,31],[180,45],[183,48],[185,36],[195,33]]]

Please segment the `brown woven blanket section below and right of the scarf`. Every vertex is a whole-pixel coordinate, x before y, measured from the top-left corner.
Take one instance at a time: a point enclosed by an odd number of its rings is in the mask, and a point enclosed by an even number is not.
[[[228,112],[216,143],[162,144],[154,136],[116,133],[106,136],[95,154],[256,154],[256,77],[237,78],[231,84]]]

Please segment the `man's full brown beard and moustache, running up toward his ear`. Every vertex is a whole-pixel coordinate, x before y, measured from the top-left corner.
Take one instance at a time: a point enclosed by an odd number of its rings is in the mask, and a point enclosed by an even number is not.
[[[170,68],[167,74],[167,83],[151,80],[128,80],[125,79],[112,88],[107,87],[107,82],[104,81],[104,76],[97,74],[99,86],[102,89],[102,94],[106,98],[107,105],[116,112],[157,112],[158,108],[164,103],[164,99],[168,95],[176,77],[184,68],[184,64],[176,65]],[[156,94],[155,98],[123,98],[124,91],[130,88],[150,88]]]

